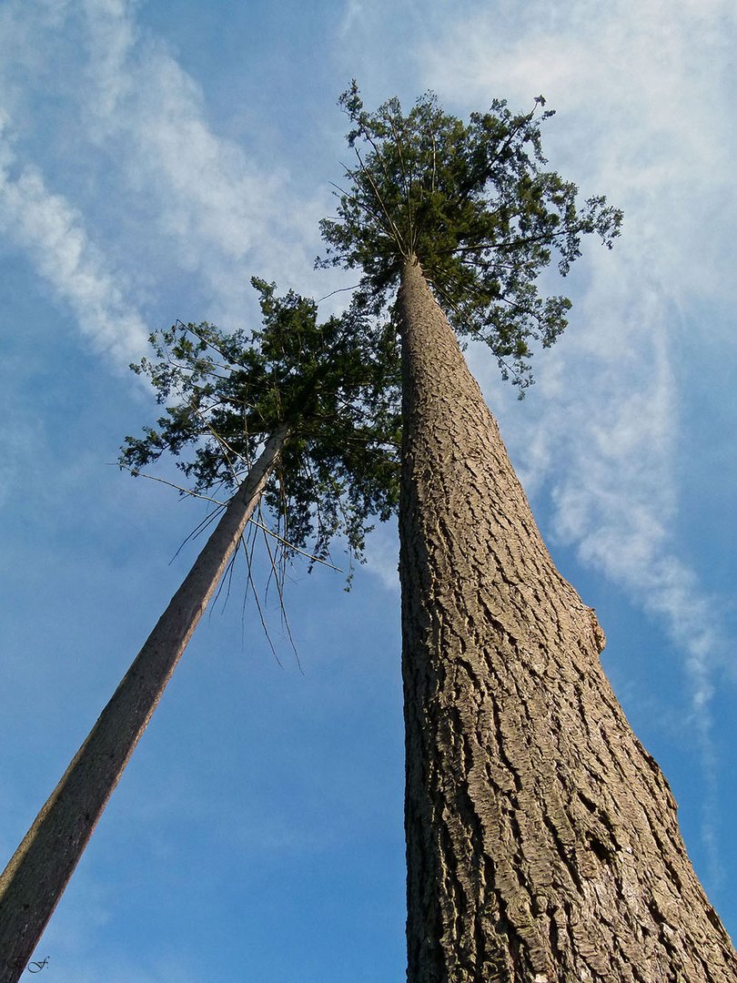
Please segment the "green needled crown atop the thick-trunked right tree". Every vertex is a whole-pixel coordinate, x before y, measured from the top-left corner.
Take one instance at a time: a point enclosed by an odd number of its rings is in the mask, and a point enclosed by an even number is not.
[[[432,93],[407,115],[396,98],[369,113],[355,81],[340,105],[357,163],[345,169],[337,216],[320,223],[327,251],[318,263],[361,268],[359,303],[376,312],[403,262],[417,258],[456,331],[488,344],[502,374],[524,388],[531,342],[551,345],[571,306],[540,296],[541,271],[555,255],[565,275],[589,233],[611,248],[621,212],[600,197],[577,206],[576,185],[544,169],[540,123],[552,112],[542,96],[526,114],[494,100],[468,124]]]

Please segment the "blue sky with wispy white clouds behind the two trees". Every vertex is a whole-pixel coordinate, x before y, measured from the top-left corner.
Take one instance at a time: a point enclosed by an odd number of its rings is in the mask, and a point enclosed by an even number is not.
[[[551,165],[623,207],[624,233],[569,277],[526,400],[469,357],[737,933],[734,28],[727,0],[0,4],[6,855],[193,556],[170,562],[201,503],[110,466],[151,418],[126,369],[148,331],[254,324],[253,274],[316,297],[352,282],[312,269],[352,77],[369,105],[432,88],[459,114],[541,92]],[[237,591],[213,607],[39,947],[44,979],[404,978],[396,550],[380,529],[348,595],[294,568],[304,674],[273,598],[282,666]]]

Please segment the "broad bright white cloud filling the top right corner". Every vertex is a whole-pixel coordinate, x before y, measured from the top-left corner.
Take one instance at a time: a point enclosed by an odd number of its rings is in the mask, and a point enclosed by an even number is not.
[[[547,127],[554,163],[594,191],[605,181],[630,218],[625,248],[650,243],[656,276],[682,267],[676,294],[708,293],[729,269],[713,220],[726,228],[721,210],[734,214],[733,22],[726,0],[500,4],[459,21],[420,63],[428,85],[474,108],[497,94],[526,107],[541,91],[559,112]]]

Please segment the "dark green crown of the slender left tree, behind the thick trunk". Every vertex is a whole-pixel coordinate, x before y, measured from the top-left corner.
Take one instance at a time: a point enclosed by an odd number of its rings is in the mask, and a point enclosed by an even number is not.
[[[232,492],[259,446],[287,423],[290,438],[263,501],[291,547],[324,559],[345,537],[363,556],[370,520],[398,499],[399,369],[393,334],[377,344],[366,314],[317,321],[312,300],[252,281],[262,327],[226,334],[177,322],[152,334],[155,359],[131,368],[165,405],[157,426],[126,437],[134,474],[173,454],[192,492]],[[289,548],[287,548],[289,552]]]

